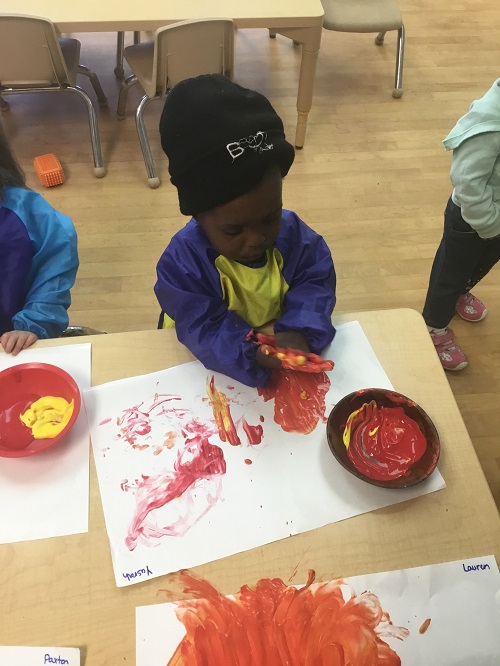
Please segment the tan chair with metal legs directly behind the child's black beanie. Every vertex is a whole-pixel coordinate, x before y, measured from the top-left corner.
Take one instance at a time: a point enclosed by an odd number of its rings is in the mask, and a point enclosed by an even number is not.
[[[135,112],[137,133],[149,187],[160,185],[144,125],[143,112],[152,99],[164,98],[179,81],[199,74],[233,77],[234,24],[231,19],[180,21],[159,28],[153,41],[124,50],[132,75],[120,87],[116,115],[125,118],[130,86],[140,83],[145,95]]]

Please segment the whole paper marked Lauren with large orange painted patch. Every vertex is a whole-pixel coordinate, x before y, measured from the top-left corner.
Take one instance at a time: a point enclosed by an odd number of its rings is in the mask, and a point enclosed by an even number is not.
[[[185,582],[185,601],[136,609],[137,666],[500,663],[492,555],[303,587],[263,579],[233,596]]]

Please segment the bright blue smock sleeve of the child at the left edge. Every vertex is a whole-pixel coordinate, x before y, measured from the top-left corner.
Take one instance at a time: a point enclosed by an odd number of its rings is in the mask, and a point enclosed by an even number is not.
[[[39,338],[56,338],[68,325],[70,289],[78,270],[76,231],[71,220],[40,195],[29,192],[24,210],[34,254],[26,281],[22,310],[12,317],[15,330]],[[17,212],[17,211],[16,211]]]

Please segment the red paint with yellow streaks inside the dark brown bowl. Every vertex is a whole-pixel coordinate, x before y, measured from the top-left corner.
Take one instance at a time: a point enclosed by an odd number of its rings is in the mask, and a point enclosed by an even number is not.
[[[418,424],[402,407],[378,407],[374,400],[349,416],[344,443],[346,440],[352,464],[378,481],[404,476],[427,448]]]

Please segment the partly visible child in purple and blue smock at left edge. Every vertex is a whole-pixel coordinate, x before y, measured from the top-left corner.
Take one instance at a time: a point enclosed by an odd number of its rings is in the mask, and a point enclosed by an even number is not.
[[[71,220],[26,188],[0,128],[0,345],[14,356],[68,325],[78,269]]]

